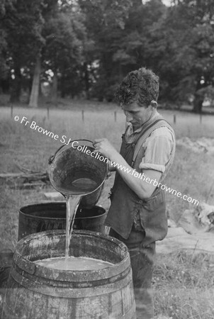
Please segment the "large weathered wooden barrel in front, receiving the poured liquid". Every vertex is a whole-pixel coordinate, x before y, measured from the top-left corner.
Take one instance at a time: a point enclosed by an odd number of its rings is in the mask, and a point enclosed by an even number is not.
[[[135,297],[128,248],[113,237],[72,234],[69,255],[113,263],[104,269],[64,271],[34,262],[64,257],[65,232],[51,230],[20,240],[4,300],[5,319],[134,319]]]

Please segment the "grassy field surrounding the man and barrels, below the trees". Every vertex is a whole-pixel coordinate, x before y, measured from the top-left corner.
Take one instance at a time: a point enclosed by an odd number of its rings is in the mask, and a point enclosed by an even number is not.
[[[84,112],[83,112],[84,111]],[[0,120],[0,172],[19,172],[16,164],[33,171],[45,172],[48,158],[53,155],[62,142],[24,125],[21,118],[26,116],[30,123],[52,133],[67,136],[72,140],[79,138],[94,140],[108,138],[119,150],[121,134],[125,127],[123,112],[113,104],[80,103],[74,101],[61,108],[29,109],[23,107],[1,107]],[[116,113],[115,113],[116,112]],[[188,112],[165,111],[160,113],[173,125],[176,138],[188,136],[214,138],[214,117]],[[174,123],[174,115],[176,123]],[[19,121],[14,121],[19,116]],[[114,174],[106,181],[103,194],[98,202],[108,209],[108,192],[113,184]],[[212,155],[196,154],[184,147],[176,148],[174,165],[164,181],[176,191],[181,191],[198,201],[214,204],[213,197],[214,161]],[[38,189],[11,187],[1,180],[0,239],[1,252],[14,250],[18,230],[18,209],[28,203],[45,200],[44,191],[52,186]],[[179,220],[182,211],[193,205],[167,194],[167,211],[171,219]],[[159,318],[173,319],[212,319],[214,318],[213,274],[210,273],[211,257],[208,254],[186,254],[175,252],[170,256],[158,255],[154,272],[154,303]],[[161,317],[162,315],[162,317]]]

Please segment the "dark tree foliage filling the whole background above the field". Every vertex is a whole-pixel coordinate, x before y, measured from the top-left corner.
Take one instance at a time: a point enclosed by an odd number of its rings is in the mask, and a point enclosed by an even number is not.
[[[53,72],[62,96],[111,101],[139,67],[159,75],[160,99],[194,96],[195,111],[213,87],[213,0],[169,7],[161,0],[2,0],[0,17],[0,77],[13,75],[16,99],[24,82],[31,85],[38,54],[41,79],[51,81]]]

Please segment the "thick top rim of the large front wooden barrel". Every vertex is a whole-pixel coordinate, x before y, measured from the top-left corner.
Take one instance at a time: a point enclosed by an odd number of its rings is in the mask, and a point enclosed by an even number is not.
[[[103,235],[101,233],[95,233],[89,230],[74,230],[72,235],[86,235],[89,237],[98,237],[103,240],[107,240],[110,242],[114,242],[121,250],[124,251],[125,257],[118,262],[117,264],[113,264],[111,267],[106,267],[103,269],[93,269],[93,270],[84,270],[84,271],[72,271],[72,270],[60,270],[60,269],[52,269],[44,266],[40,266],[39,264],[35,264],[35,262],[30,261],[26,257],[23,257],[21,254],[21,247],[24,242],[28,242],[33,239],[37,239],[38,235],[40,237],[47,237],[48,235],[59,236],[66,235],[64,230],[46,230],[41,233],[34,233],[23,237],[18,241],[16,245],[16,250],[13,254],[13,263],[23,272],[26,272],[30,275],[39,275],[44,277],[45,279],[53,279],[57,281],[98,281],[101,279],[111,279],[113,276],[118,276],[121,272],[125,272],[126,269],[130,268],[130,255],[128,252],[128,247],[121,242],[120,240],[111,237],[109,235]],[[110,271],[111,269],[111,271]],[[62,276],[63,275],[63,276]],[[87,279],[86,279],[87,275]]]

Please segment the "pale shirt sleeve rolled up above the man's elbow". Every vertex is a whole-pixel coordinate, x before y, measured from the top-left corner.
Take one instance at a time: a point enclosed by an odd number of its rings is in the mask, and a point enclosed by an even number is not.
[[[159,128],[150,135],[142,145],[145,147],[145,156],[140,162],[140,169],[154,169],[165,172],[173,148],[173,138],[169,129]]]

